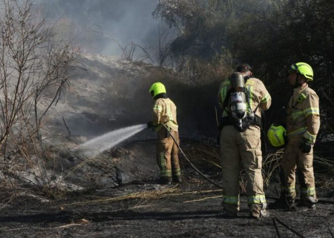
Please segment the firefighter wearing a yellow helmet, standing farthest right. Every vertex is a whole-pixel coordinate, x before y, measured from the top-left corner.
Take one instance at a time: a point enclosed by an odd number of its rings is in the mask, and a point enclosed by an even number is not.
[[[294,87],[294,93],[287,105],[287,144],[280,162],[281,197],[270,207],[297,210],[297,169],[301,199],[298,207],[315,209],[317,197],[313,174],[313,145],[320,127],[319,98],[308,86],[308,82],[313,81],[313,70],[309,64],[299,62],[291,65],[288,71],[287,79]]]

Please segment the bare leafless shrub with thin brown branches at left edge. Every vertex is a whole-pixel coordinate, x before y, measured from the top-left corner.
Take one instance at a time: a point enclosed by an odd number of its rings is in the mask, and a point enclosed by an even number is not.
[[[34,15],[30,0],[0,2],[0,145],[16,148],[14,169],[31,173],[37,184],[52,187],[46,169],[40,128],[69,85],[67,70],[75,59],[71,42],[54,41],[44,19]],[[26,181],[27,182],[27,181]]]

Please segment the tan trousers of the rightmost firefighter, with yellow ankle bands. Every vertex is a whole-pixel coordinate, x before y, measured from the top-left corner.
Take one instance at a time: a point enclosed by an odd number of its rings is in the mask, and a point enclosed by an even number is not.
[[[313,148],[307,154],[303,153],[300,145],[302,135],[289,138],[280,163],[282,170],[282,194],[296,198],[296,169],[301,186],[301,200],[317,201],[313,173]]]

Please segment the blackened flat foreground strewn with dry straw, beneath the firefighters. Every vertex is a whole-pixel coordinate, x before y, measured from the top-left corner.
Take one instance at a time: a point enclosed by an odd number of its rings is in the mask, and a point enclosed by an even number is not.
[[[205,151],[205,146],[184,146],[187,154],[193,151],[197,157],[203,155],[199,151]],[[215,151],[213,147],[209,152]],[[181,161],[184,181],[180,185],[161,186],[145,175],[148,181],[67,193],[57,200],[40,194],[16,195],[0,210],[0,237],[277,237],[275,217],[305,237],[333,237],[333,202],[319,203],[316,210],[268,210],[269,218],[255,220],[248,217],[246,198],[241,196],[239,216],[226,218],[219,188],[195,174],[183,158]],[[195,162],[219,182],[219,169],[212,163]],[[328,173],[316,173],[319,197],[333,201],[332,180]],[[277,196],[277,186],[276,174],[266,195]],[[2,201],[11,195],[6,189],[0,191]],[[112,201],[115,197],[119,200]],[[298,237],[281,224],[278,229],[280,237]]]

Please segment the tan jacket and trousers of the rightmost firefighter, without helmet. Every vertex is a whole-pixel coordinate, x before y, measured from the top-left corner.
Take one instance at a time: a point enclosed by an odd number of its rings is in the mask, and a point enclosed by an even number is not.
[[[316,203],[313,173],[313,146],[309,153],[301,151],[303,140],[315,141],[320,127],[319,98],[306,85],[294,89],[287,105],[287,145],[280,163],[281,195],[296,198],[296,169],[300,184],[301,200]]]

